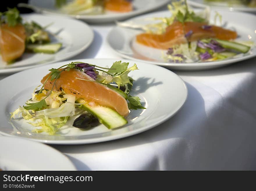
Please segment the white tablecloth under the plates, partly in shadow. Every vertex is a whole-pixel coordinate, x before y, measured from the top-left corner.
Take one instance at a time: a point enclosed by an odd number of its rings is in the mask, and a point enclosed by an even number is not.
[[[121,59],[106,43],[114,24],[91,26],[92,45],[72,59]],[[120,140],[52,146],[78,170],[256,170],[256,58],[175,73],[189,96],[165,123]]]

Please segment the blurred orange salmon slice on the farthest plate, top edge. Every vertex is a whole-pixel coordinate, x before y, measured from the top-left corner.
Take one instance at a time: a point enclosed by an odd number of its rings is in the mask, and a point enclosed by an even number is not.
[[[106,10],[125,13],[132,10],[132,3],[126,0],[105,0],[104,7]]]

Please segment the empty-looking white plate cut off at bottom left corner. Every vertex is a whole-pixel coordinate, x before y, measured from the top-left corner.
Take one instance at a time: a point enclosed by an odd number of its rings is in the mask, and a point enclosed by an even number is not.
[[[76,170],[58,150],[38,142],[0,136],[1,170]]]

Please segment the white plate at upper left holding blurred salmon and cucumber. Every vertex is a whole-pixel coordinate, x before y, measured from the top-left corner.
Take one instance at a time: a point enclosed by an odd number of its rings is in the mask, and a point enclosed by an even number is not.
[[[35,21],[41,26],[47,26],[52,23],[47,28],[47,31],[51,33],[58,32],[56,37],[52,37],[52,42],[61,42],[63,46],[55,54],[24,53],[20,60],[10,65],[7,65],[0,58],[0,74],[19,72],[41,64],[66,60],[84,51],[93,41],[94,34],[92,29],[81,21],[39,14],[25,14],[22,15],[22,18],[24,21]]]

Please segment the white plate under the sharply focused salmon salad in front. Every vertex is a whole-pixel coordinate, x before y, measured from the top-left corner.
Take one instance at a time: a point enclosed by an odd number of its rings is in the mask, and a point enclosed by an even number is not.
[[[106,65],[111,66],[117,60],[86,59],[77,61],[106,67]],[[125,61],[130,65],[134,63],[134,61]],[[139,70],[131,72],[131,77],[135,79],[134,90],[131,94],[139,96],[143,106],[147,109],[132,110],[127,117],[128,124],[125,126],[109,130],[104,125],[99,125],[91,130],[82,131],[72,127],[71,122],[71,124],[63,126],[63,130],[59,131],[57,135],[47,135],[32,133],[31,130],[34,127],[26,123],[24,119],[10,121],[9,113],[24,105],[25,101],[31,97],[34,88],[40,85],[40,80],[47,74],[48,69],[57,68],[69,62],[25,70],[0,81],[0,89],[6,90],[1,91],[0,94],[1,134],[29,138],[47,144],[86,144],[115,140],[135,135],[161,124],[173,116],[187,98],[186,85],[179,76],[163,67],[136,62]]]

